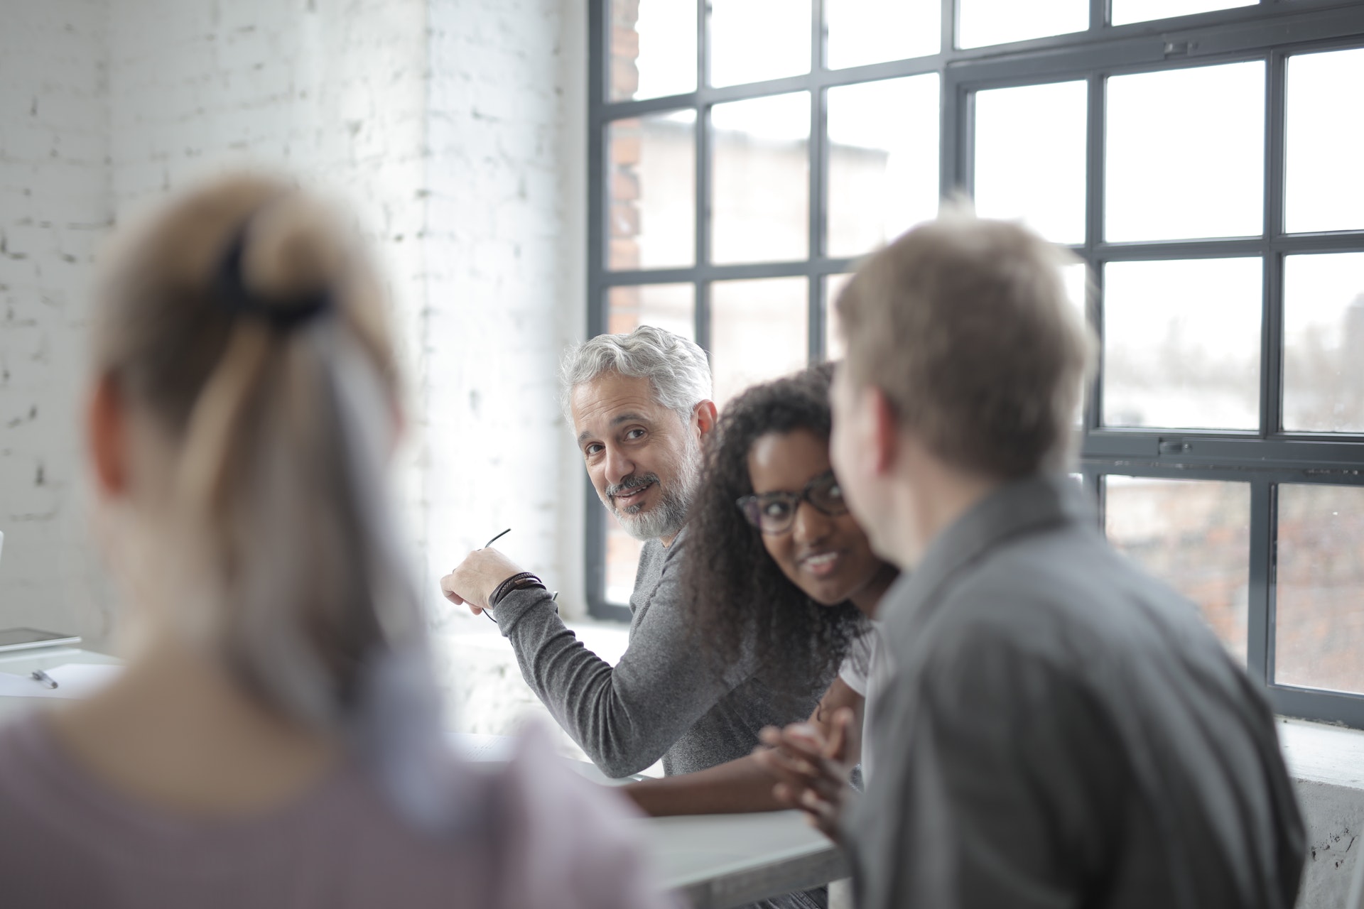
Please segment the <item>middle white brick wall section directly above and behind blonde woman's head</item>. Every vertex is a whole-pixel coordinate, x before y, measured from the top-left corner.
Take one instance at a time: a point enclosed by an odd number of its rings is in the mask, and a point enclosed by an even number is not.
[[[424,26],[423,0],[110,0],[109,16],[117,221],[241,166],[282,169],[356,211],[402,330],[417,432],[401,477],[417,546]]]

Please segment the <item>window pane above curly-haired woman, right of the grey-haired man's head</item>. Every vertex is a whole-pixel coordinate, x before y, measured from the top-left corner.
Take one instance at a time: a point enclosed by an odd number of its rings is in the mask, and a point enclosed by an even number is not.
[[[801,369],[809,360],[805,278],[717,281],[711,285],[711,371],[715,402],[756,382]]]

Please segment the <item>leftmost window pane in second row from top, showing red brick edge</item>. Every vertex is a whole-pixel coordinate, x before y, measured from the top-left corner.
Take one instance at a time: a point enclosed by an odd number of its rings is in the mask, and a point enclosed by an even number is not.
[[[696,110],[617,120],[607,127],[611,268],[696,260]]]

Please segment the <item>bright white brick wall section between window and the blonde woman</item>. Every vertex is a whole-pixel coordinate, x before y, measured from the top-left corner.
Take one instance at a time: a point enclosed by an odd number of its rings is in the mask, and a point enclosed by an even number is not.
[[[430,11],[431,575],[513,527],[498,546],[577,612],[582,467],[555,383],[585,323],[582,196],[567,187],[585,173],[573,150],[587,105],[565,90],[585,82],[584,55],[565,49],[585,35],[585,4],[441,0]]]

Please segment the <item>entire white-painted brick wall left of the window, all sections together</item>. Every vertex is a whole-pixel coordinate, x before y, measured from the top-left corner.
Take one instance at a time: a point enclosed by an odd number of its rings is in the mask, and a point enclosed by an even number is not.
[[[75,421],[90,262],[110,222],[247,164],[340,192],[375,241],[432,594],[510,525],[507,551],[580,606],[581,467],[554,367],[585,322],[582,0],[0,5],[0,627],[106,641]]]

